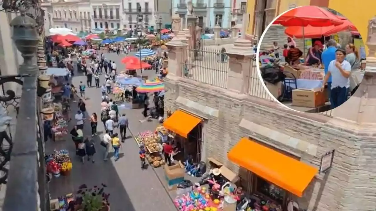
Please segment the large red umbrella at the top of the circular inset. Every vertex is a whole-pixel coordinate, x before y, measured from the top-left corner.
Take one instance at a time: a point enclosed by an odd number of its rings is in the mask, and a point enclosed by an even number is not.
[[[302,6],[281,15],[273,24],[282,26],[338,26],[343,23],[336,15],[318,6]]]

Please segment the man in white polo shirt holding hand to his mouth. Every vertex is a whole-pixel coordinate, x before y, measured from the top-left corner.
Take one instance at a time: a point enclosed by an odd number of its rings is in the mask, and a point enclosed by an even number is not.
[[[337,49],[335,51],[335,60],[331,61],[328,66],[328,72],[325,75],[321,91],[324,90],[325,84],[332,77],[332,86],[330,90],[331,109],[334,109],[347,101],[350,87],[351,65],[345,60],[346,51]]]

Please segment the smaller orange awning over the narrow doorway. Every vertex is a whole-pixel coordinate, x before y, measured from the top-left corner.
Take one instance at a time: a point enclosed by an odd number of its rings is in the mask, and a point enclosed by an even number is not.
[[[188,137],[188,133],[190,133],[201,121],[201,118],[177,110],[163,122],[163,126],[167,130],[171,130],[186,138]]]

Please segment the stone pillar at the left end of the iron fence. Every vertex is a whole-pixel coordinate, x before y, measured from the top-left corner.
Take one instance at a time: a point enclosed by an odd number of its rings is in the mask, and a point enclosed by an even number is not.
[[[168,74],[182,77],[184,63],[183,57],[185,58],[184,54],[186,52],[184,49],[188,45],[175,37],[170,42],[167,42],[166,46],[168,48]]]

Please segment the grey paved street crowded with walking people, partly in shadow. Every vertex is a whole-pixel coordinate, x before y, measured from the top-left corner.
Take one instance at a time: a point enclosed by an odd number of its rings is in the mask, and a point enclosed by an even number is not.
[[[117,56],[115,53],[106,54],[108,60],[114,60],[117,64],[118,71],[124,69],[124,65],[120,63],[124,54]],[[153,76],[154,71],[146,71],[144,75]],[[73,84],[77,87],[79,81],[86,82],[85,76],[75,76]],[[101,83],[104,81],[104,75],[100,78]],[[100,89],[90,87],[86,90],[86,108],[89,114],[96,112],[100,115]],[[71,118],[74,119],[74,114],[77,112],[77,105],[71,105]],[[143,119],[142,110],[120,110],[120,114],[125,113],[130,121],[130,131],[133,134],[142,132],[144,130],[155,130],[156,121],[140,123]],[[70,123],[69,130],[75,124],[74,120]],[[152,167],[147,170],[141,170],[140,161],[138,157],[138,146],[136,145],[130,133],[125,143],[120,149],[120,159],[114,161],[103,161],[104,149],[100,146],[100,140],[103,135],[104,127],[102,122],[98,124],[98,131],[100,135],[96,137],[96,150],[94,156],[95,163],[85,160],[85,163],[80,163],[75,156],[74,143],[67,136],[65,141],[47,142],[46,153],[51,153],[53,149],[68,149],[73,160],[73,169],[71,175],[68,177],[61,176],[60,178],[53,178],[50,183],[51,198],[55,199],[58,196],[74,193],[79,185],[86,184],[89,187],[100,185],[104,183],[107,185],[105,191],[110,193],[109,202],[111,204],[111,211],[176,211],[176,208],[165,191]],[[118,132],[118,129],[115,130]],[[87,123],[84,128],[84,135],[90,135],[90,125]],[[112,156],[112,150],[110,155]]]

